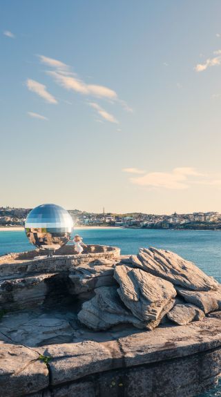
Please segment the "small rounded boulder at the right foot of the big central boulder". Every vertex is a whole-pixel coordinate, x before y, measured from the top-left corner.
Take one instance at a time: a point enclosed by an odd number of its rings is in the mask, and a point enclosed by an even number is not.
[[[178,325],[187,325],[191,321],[202,320],[205,313],[193,304],[175,304],[167,317]]]

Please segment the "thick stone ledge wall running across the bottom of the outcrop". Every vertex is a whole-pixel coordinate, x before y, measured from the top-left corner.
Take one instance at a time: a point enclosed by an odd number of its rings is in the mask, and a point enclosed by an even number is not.
[[[0,397],[193,397],[218,380],[221,322],[0,351]]]

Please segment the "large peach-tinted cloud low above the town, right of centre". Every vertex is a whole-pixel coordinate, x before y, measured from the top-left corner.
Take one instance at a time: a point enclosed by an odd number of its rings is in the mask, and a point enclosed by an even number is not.
[[[191,167],[174,168],[171,173],[153,172],[140,177],[132,177],[131,182],[140,186],[184,190],[189,188],[191,177],[201,177],[201,173]]]

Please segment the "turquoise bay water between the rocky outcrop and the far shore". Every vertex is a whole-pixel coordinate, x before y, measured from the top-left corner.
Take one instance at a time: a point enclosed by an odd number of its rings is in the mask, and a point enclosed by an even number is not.
[[[77,232],[86,244],[119,246],[122,254],[137,253],[139,247],[148,246],[175,251],[221,282],[221,231],[87,229]],[[23,231],[0,231],[0,255],[30,249],[32,245]],[[198,397],[215,396],[221,397],[221,383]]]

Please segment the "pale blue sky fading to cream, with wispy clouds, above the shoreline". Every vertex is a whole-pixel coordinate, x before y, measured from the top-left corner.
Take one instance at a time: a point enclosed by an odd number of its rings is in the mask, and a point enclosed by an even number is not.
[[[0,206],[221,212],[220,0],[1,0]]]

